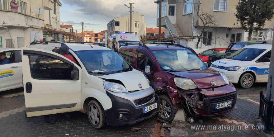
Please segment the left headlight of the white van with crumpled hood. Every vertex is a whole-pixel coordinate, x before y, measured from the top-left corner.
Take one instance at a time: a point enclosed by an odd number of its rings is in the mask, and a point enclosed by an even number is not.
[[[112,92],[128,93],[125,86],[123,86],[121,84],[114,83],[114,82],[108,82],[108,81],[104,81],[103,84],[104,84],[105,89],[110,90]]]

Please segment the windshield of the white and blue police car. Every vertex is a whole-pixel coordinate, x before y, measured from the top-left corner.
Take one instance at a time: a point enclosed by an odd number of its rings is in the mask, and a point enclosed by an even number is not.
[[[241,60],[241,61],[251,61],[262,54],[265,49],[253,49],[253,48],[243,48],[236,51],[234,54],[228,57],[228,59]]]

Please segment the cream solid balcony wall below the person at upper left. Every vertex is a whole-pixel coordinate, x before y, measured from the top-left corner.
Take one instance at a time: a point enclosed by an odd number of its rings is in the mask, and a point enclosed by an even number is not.
[[[1,26],[44,28],[44,20],[20,12],[0,10],[0,17]]]

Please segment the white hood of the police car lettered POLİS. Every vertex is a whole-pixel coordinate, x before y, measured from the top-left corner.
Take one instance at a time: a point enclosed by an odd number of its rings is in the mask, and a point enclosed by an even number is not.
[[[214,61],[212,64],[219,65],[223,67],[240,67],[244,64],[248,64],[250,61],[240,61],[240,60],[234,60],[234,59],[220,59]]]

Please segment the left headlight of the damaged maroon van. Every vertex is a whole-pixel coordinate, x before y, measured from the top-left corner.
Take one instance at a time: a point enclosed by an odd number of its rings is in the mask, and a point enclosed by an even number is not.
[[[185,90],[195,89],[197,85],[188,78],[174,78],[175,85]]]

